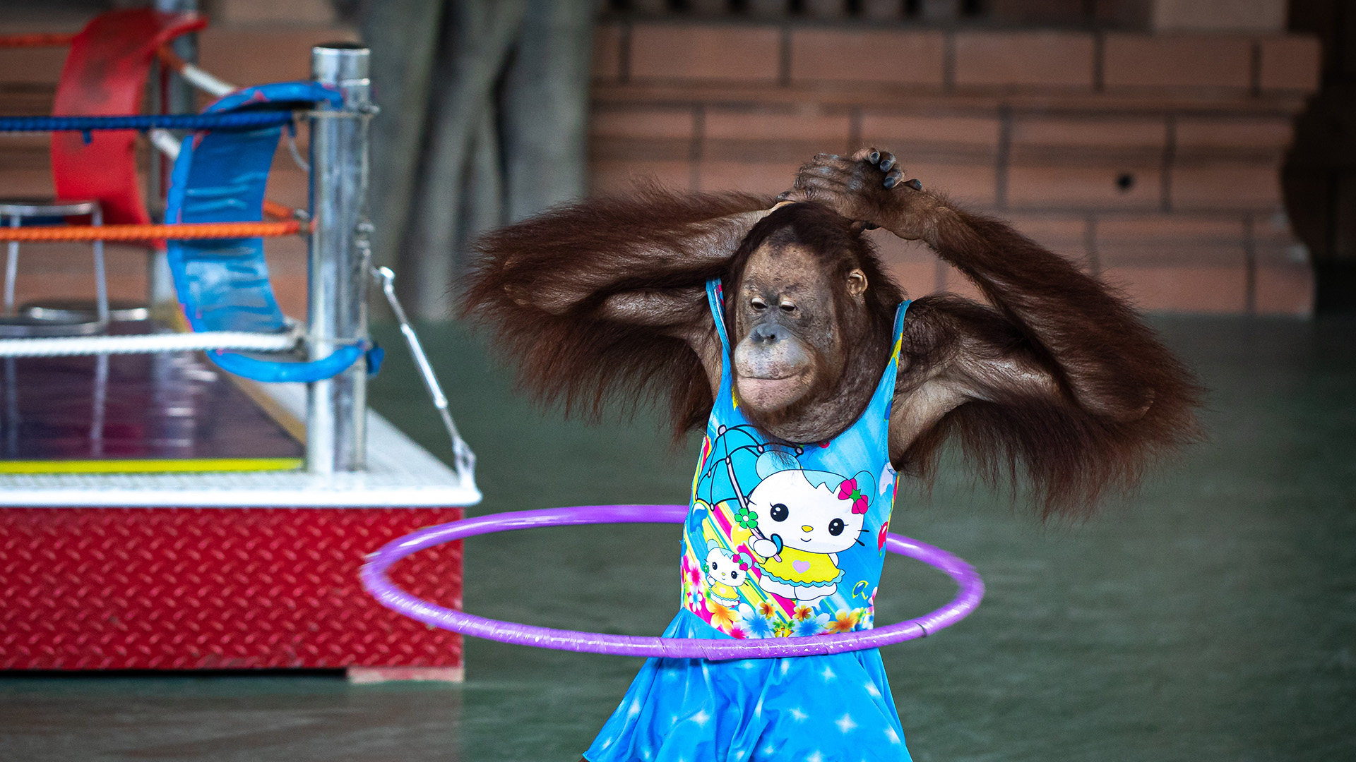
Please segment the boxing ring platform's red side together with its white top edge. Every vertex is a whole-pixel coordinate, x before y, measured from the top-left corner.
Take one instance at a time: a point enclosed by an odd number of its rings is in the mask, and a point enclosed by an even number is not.
[[[247,388],[292,430],[306,389]],[[0,475],[0,670],[343,670],[460,682],[462,639],[377,603],[367,553],[479,502],[377,414],[362,473]],[[395,569],[461,607],[461,544]]]

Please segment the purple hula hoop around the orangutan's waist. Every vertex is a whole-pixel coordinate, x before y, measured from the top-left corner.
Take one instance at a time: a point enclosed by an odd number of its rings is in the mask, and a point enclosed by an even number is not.
[[[405,593],[386,578],[391,564],[411,553],[433,545],[491,534],[511,529],[533,529],[541,526],[574,526],[584,523],[682,523],[687,506],[579,506],[574,508],[546,508],[540,511],[515,511],[490,514],[438,526],[430,526],[384,545],[367,556],[362,567],[362,584],[382,606],[424,624],[473,635],[500,643],[555,648],[560,651],[580,651],[586,654],[613,654],[618,656],[662,656],[669,659],[772,659],[778,656],[814,656],[820,654],[842,654],[879,648],[892,643],[903,643],[915,637],[926,637],[945,626],[965,618],[979,606],[984,597],[984,582],[979,579],[964,560],[934,548],[926,542],[888,534],[885,548],[891,553],[909,556],[936,567],[956,580],[960,591],[936,611],[906,620],[899,624],[839,635],[815,635],[808,637],[767,637],[758,640],[736,639],[678,639],[639,637],[628,635],[603,635],[597,632],[576,632],[544,626],[504,622],[476,617],[465,611],[454,611],[435,606],[422,598]]]

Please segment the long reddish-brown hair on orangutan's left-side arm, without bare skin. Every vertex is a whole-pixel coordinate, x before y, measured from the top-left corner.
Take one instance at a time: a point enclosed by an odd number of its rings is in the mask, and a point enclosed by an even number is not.
[[[487,325],[495,350],[518,369],[518,382],[545,404],[598,420],[609,401],[622,411],[669,408],[675,441],[706,422],[713,403],[697,354],[652,327],[597,317],[617,293],[702,287],[727,275],[734,258],[656,267],[644,252],[681,251],[693,224],[772,206],[749,194],[677,194],[655,186],[625,197],[560,206],[480,239],[462,316]],[[551,289],[591,271],[626,273],[574,309],[551,315],[513,294]]]

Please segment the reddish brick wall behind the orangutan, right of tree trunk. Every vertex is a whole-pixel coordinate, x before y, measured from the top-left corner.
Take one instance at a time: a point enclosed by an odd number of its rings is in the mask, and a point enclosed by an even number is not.
[[[1307,315],[1280,165],[1318,58],[1294,35],[605,23],[593,188],[776,194],[816,152],[876,145],[1144,309]],[[913,296],[968,290],[877,240]]]

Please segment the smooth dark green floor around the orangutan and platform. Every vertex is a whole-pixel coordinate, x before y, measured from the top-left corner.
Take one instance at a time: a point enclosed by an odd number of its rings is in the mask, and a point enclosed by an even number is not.
[[[1131,503],[1041,526],[951,469],[896,532],[974,563],[979,611],[884,651],[918,761],[1356,759],[1356,321],[1161,320],[1211,386],[1211,442]],[[388,336],[376,407],[442,453]],[[454,327],[426,327],[480,457],[479,511],[682,502],[693,454],[654,420],[542,418]],[[658,633],[677,527],[534,530],[466,546],[471,611]],[[892,557],[877,621],[951,583]],[[0,761],[572,761],[639,660],[469,641],[462,686],[323,675],[0,677]]]

